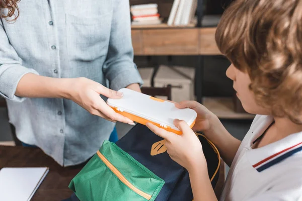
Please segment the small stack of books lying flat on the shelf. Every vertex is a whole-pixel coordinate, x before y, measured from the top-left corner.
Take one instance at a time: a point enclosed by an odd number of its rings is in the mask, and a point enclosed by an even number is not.
[[[131,6],[130,11],[132,14],[132,25],[156,25],[162,23],[157,4]]]

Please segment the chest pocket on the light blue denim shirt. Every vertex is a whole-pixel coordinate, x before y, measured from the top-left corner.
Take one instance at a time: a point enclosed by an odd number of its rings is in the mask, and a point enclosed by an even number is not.
[[[66,14],[66,46],[70,60],[93,61],[106,56],[111,13],[83,17]]]

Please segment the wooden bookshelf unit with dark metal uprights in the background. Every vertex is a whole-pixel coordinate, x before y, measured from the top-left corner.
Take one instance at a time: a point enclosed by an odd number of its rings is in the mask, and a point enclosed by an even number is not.
[[[204,72],[204,60],[206,56],[221,55],[215,41],[216,26],[223,12],[223,6],[230,2],[231,0],[221,0],[221,5],[216,5],[210,1],[198,0],[195,17],[189,21],[190,23],[175,25],[174,22],[172,25],[168,25],[167,21],[173,10],[174,0],[164,2],[130,0],[131,6],[157,4],[158,7],[155,6],[157,9],[153,14],[158,13],[163,19],[162,24],[132,25],[132,45],[135,56],[196,56],[195,92],[197,101],[204,104],[220,119],[250,120],[254,116],[243,111],[236,96],[207,97],[203,94],[204,78],[207,76]],[[211,85],[207,87],[211,87]]]

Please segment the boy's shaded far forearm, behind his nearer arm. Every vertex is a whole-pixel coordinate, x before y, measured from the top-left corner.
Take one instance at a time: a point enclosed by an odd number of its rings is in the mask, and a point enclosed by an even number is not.
[[[241,141],[234,138],[217,117],[213,118],[211,128],[204,134],[217,147],[224,162],[231,166]]]

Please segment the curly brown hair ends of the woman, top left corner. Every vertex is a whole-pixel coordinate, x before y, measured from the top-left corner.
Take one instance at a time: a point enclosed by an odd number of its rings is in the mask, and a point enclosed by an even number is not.
[[[6,19],[9,22],[13,22],[16,21],[17,18],[19,17],[19,8],[17,3],[19,3],[20,0],[0,0],[0,12],[3,9],[7,9],[8,12],[7,14],[3,14],[4,12],[1,12],[1,18]],[[16,12],[17,11],[17,12]],[[8,18],[12,18],[14,16],[13,19],[8,19]]]

